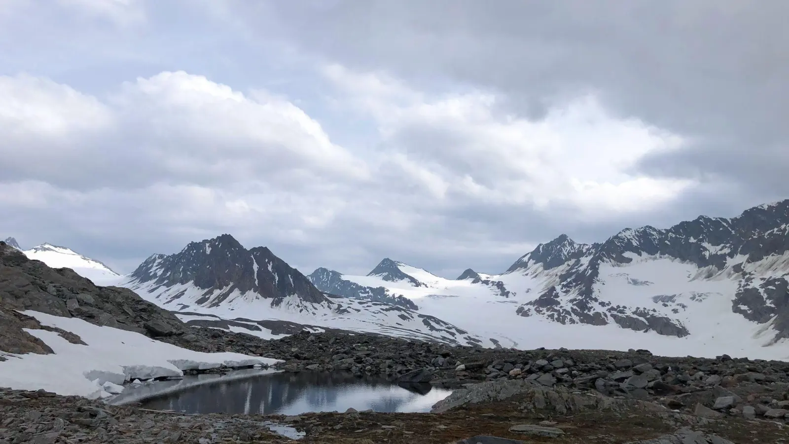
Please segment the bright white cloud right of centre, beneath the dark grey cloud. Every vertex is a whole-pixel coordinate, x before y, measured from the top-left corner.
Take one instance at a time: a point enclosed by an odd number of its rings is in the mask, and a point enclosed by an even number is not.
[[[682,137],[611,117],[592,94],[533,121],[504,112],[493,93],[429,95],[337,65],[323,73],[375,119],[391,164],[437,198],[561,203],[603,216],[655,208],[692,185],[630,173],[644,156],[682,146]]]

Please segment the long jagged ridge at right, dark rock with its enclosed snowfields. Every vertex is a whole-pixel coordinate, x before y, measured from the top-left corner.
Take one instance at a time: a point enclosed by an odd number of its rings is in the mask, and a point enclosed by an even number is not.
[[[507,273],[556,278],[518,307],[522,316],[614,322],[675,337],[703,330],[705,318],[719,316],[747,320],[762,330],[764,344],[776,344],[789,339],[789,200],[732,219],[699,216],[664,230],[626,228],[592,245],[563,235]]]

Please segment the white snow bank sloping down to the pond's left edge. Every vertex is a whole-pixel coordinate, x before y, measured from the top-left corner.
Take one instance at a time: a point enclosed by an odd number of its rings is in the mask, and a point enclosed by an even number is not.
[[[54,350],[50,355],[10,355],[0,362],[0,387],[46,389],[62,395],[107,397],[118,385],[134,379],[181,376],[184,370],[209,369],[224,364],[244,367],[274,364],[277,359],[251,358],[241,353],[193,352],[140,333],[93,325],[78,318],[62,318],[24,311],[43,325],[75,333],[87,346],[71,344],[58,333],[25,329]]]

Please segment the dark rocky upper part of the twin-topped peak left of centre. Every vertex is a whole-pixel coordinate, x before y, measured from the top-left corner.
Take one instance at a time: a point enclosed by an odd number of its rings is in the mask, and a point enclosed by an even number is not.
[[[326,300],[307,277],[267,247],[246,250],[231,235],[189,243],[180,253],[169,256],[154,254],[131,277],[136,285],[152,282],[153,290],[193,283],[206,291],[204,298],[196,301],[204,307],[219,306],[235,291],[255,292],[272,299],[272,305],[289,295],[298,295],[308,303]]]

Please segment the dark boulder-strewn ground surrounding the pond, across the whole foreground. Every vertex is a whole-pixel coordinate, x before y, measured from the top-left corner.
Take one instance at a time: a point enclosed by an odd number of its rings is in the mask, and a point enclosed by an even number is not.
[[[443,348],[344,333],[299,333],[265,345],[230,337],[215,341],[285,359],[286,371],[387,374],[457,390],[432,413],[290,417],[191,416],[5,390],[0,443],[290,441],[271,430],[275,424],[294,427],[301,442],[329,444],[789,442],[784,362],[666,358],[645,350]]]

